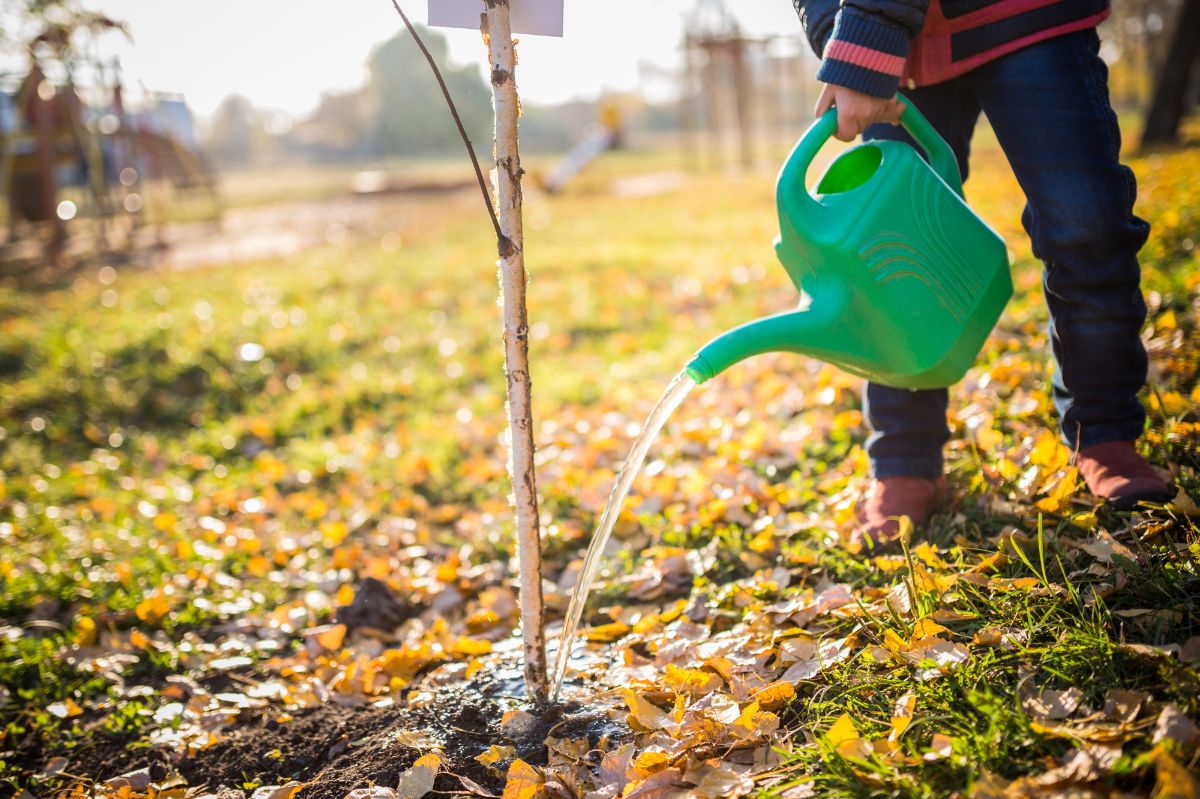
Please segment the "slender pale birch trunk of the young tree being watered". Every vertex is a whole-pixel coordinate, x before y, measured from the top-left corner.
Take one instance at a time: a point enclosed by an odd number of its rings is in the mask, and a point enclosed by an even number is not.
[[[517,121],[516,49],[509,0],[484,0],[496,103],[496,167],[500,221],[500,290],[504,296],[504,364],[508,373],[509,470],[516,503],[517,557],[521,566],[521,629],[524,636],[526,687],[534,704],[548,699],[546,636],[541,596],[541,537],[533,462],[533,408],[529,386],[529,317],[526,311],[524,236],[521,221],[521,154]]]

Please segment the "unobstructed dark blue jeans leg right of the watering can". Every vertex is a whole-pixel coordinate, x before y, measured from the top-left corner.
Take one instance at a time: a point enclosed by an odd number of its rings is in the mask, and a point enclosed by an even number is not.
[[[1146,317],[1138,251],[1148,226],[1133,215],[1133,173],[1096,31],[1051,38],[988,64],[976,90],[1025,190],[1025,228],[1045,263],[1055,403],[1063,438],[1086,449],[1135,440],[1146,380]]]

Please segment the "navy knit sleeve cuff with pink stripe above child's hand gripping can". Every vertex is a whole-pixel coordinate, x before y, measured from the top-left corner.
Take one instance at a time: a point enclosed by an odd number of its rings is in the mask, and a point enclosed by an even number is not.
[[[902,28],[842,6],[826,44],[817,80],[874,97],[894,97],[910,44]]]

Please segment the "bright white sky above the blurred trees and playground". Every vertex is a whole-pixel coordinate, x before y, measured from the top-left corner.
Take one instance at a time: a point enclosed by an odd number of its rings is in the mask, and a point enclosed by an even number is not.
[[[425,22],[430,0],[401,0]],[[565,0],[565,36],[527,36],[517,71],[530,103],[595,97],[638,85],[638,61],[679,62],[683,14],[694,0]],[[304,115],[322,91],[360,85],[371,48],[402,28],[390,0],[85,0],[130,24],[132,44],[109,37],[126,85],[181,92],[211,114],[236,92],[256,106]],[[748,32],[797,34],[790,0],[731,0]],[[475,31],[444,31],[458,64],[486,58]]]

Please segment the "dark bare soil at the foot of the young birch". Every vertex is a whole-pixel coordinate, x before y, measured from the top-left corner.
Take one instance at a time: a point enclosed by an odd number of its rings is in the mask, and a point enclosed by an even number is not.
[[[276,721],[278,708],[246,710],[221,741],[181,759],[172,751],[131,747],[128,739],[97,732],[86,749],[70,753],[70,770],[103,781],[150,767],[156,779],[178,771],[187,785],[230,798],[254,786],[296,780],[305,783],[302,799],[342,799],[355,788],[396,787],[401,773],[424,753],[401,744],[397,733],[418,732],[442,744],[445,761],[436,791],[463,791],[461,775],[499,794],[503,769],[475,759],[493,744],[514,746],[518,757],[541,765],[547,735],[588,735],[595,745],[602,735],[613,740],[628,733],[599,710],[568,704],[535,714],[535,723],[512,738],[500,727],[505,711],[520,707],[512,687],[509,679],[480,677],[434,687],[432,698],[418,707],[330,703],[294,711],[283,723]]]

